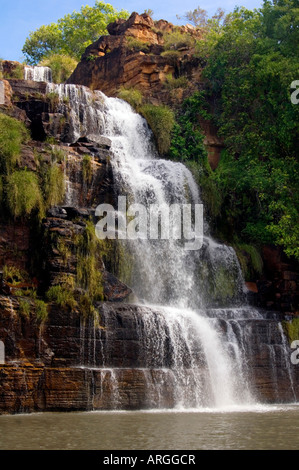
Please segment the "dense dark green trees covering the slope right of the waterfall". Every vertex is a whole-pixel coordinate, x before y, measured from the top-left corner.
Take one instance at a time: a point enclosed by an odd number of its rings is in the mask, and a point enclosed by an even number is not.
[[[197,47],[204,90],[183,105],[170,156],[196,162],[217,235],[257,251],[264,243],[281,245],[299,259],[299,106],[290,100],[299,73],[297,7],[295,0],[266,1],[260,10],[236,9],[207,28]],[[200,119],[211,120],[223,138],[214,172]],[[246,256],[258,270],[253,252]]]

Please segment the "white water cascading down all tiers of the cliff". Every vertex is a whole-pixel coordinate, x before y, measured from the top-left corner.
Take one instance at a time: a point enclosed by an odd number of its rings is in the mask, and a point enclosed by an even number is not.
[[[97,141],[103,135],[112,141],[117,191],[129,203],[147,208],[200,203],[189,170],[159,158],[146,121],[127,103],[76,85],[49,84],[48,90],[59,95],[59,112],[67,114],[70,122],[65,142],[80,137]],[[149,401],[153,407],[165,403],[164,381],[171,383],[177,407],[254,402],[242,321],[259,319],[260,314],[242,307],[244,282],[234,250],[215,242],[206,223],[204,228],[203,246],[196,251],[184,249],[180,240],[119,241],[132,259],[130,286],[140,304],[151,306],[150,312],[136,318],[136,331],[148,393],[156,397]],[[102,366],[104,375],[109,371],[113,377],[115,395],[117,370],[105,364],[109,359],[105,334]],[[160,382],[149,372],[155,369],[163,377]]]

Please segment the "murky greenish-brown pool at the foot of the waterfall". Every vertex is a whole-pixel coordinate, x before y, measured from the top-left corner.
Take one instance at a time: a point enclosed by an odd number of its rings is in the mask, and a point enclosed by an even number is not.
[[[296,405],[0,416],[0,449],[297,450],[298,420]]]

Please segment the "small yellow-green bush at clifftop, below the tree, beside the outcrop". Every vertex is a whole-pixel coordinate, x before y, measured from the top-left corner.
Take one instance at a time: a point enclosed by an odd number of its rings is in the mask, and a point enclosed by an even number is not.
[[[73,73],[78,61],[67,54],[50,54],[44,57],[39,65],[50,67],[54,83],[64,83]]]

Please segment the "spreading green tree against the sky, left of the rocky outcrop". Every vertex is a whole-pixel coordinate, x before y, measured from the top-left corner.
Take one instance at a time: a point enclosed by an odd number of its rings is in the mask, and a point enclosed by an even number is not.
[[[43,25],[31,32],[22,52],[31,65],[51,54],[66,54],[80,60],[87,46],[107,34],[109,23],[128,16],[127,11],[117,11],[109,3],[97,0],[94,7],[83,6],[80,12],[73,11],[57,23]]]

